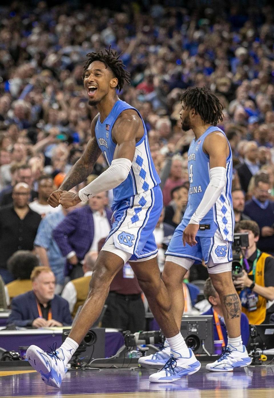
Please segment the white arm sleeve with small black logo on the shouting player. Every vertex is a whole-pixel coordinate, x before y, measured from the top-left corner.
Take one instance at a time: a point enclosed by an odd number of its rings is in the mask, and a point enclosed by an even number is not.
[[[110,167],[98,176],[94,181],[78,192],[82,202],[98,193],[109,191],[120,185],[129,175],[132,162],[126,158],[112,160]]]

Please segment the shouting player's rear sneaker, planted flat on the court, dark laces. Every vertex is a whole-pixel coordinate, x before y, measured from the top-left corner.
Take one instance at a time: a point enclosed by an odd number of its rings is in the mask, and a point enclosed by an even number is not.
[[[171,351],[171,354],[172,350]],[[164,367],[157,373],[153,373],[149,376],[149,381],[151,383],[172,383],[179,380],[183,376],[192,375],[198,372],[201,367],[199,361],[197,361],[193,351],[189,348],[190,356],[168,359]]]

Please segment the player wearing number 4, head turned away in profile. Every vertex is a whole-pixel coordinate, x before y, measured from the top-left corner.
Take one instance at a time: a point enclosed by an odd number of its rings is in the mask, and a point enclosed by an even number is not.
[[[241,303],[231,277],[235,224],[231,197],[232,153],[225,134],[215,127],[218,120],[222,120],[223,107],[210,90],[188,89],[181,101],[182,129],[192,129],[195,136],[188,150],[190,189],[186,212],[166,251],[162,279],[180,330],[184,309],[182,281],[192,264],[204,258],[221,299],[228,332],[225,352],[217,361],[207,364],[206,369],[232,371],[251,363],[241,339]],[[166,344],[158,354],[140,358],[139,363],[161,365],[169,356],[170,347]],[[158,372],[159,377],[163,372]]]

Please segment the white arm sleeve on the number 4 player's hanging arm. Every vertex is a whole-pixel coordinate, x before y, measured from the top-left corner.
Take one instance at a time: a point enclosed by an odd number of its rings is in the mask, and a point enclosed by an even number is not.
[[[200,221],[209,212],[211,207],[215,205],[225,186],[225,172],[224,167],[213,167],[210,169],[210,182],[205,189],[200,205],[190,219],[190,224],[200,224]]]

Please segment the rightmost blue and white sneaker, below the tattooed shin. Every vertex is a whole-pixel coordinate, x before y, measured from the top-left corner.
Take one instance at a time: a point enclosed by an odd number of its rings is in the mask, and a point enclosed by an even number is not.
[[[208,363],[205,369],[211,372],[231,372],[235,368],[243,368],[250,365],[251,358],[244,345],[243,348],[243,351],[239,351],[235,347],[227,345],[219,359],[213,363]]]

